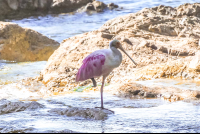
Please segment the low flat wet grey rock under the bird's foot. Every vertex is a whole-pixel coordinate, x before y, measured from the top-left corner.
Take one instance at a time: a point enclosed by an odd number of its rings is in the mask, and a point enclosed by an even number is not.
[[[54,108],[49,110],[50,113],[57,113],[59,115],[66,115],[69,117],[82,117],[86,119],[104,120],[109,114],[113,114],[107,109],[99,108],[80,108],[80,107],[69,107],[69,108]]]

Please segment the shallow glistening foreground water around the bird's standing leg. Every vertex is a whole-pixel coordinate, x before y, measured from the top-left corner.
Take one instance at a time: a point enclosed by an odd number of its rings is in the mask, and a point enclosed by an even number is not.
[[[110,94],[104,96],[105,107],[115,112],[106,120],[67,117],[47,112],[66,105],[87,108],[100,105],[97,92],[75,93],[40,100],[38,102],[46,106],[40,110],[0,115],[0,132],[65,129],[76,132],[200,132],[199,105],[181,101],[170,103],[161,99],[122,99]]]

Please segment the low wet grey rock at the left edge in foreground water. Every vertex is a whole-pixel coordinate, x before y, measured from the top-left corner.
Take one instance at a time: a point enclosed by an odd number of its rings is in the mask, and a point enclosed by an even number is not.
[[[24,110],[34,110],[43,108],[44,106],[38,102],[22,102],[22,101],[8,101],[6,99],[0,100],[0,114],[7,114],[13,112],[19,112]]]

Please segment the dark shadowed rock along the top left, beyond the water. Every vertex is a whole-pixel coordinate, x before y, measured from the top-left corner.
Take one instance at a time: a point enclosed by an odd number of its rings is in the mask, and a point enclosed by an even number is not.
[[[68,13],[89,3],[92,4],[92,10],[98,12],[107,7],[103,2],[95,0],[1,0],[0,20],[48,13]],[[86,9],[90,9],[87,7]],[[109,4],[108,7],[109,9],[113,9],[118,6]]]

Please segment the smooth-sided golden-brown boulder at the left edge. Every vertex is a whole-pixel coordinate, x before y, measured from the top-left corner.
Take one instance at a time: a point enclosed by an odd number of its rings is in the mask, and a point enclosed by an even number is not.
[[[14,23],[0,22],[0,59],[10,61],[43,61],[59,43]]]

